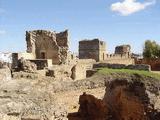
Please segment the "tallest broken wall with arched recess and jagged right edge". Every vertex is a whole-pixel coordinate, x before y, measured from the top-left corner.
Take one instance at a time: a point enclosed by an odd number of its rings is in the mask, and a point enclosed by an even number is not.
[[[36,59],[52,59],[53,64],[65,63],[68,53],[68,31],[55,33],[46,30],[26,32],[27,52]]]

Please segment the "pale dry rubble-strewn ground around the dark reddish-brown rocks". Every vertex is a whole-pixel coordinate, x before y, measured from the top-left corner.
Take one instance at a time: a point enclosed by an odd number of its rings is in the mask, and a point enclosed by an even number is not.
[[[5,71],[5,77],[7,79],[4,79],[4,76],[2,76],[3,79],[0,78],[0,120],[67,120],[68,113],[75,113],[79,111],[80,95],[82,95],[84,92],[94,95],[95,97],[91,97],[91,101],[90,97],[87,97],[87,100],[89,100],[90,103],[94,101],[100,101],[97,100],[97,98],[102,100],[104,95],[106,94],[105,83],[107,81],[114,81],[114,79],[117,78],[124,81],[124,83],[122,83],[127,89],[128,83],[132,85],[132,83],[134,83],[134,80],[142,81],[142,83],[144,84],[143,90],[147,91],[145,92],[145,94],[148,94],[151,98],[151,102],[149,101],[149,103],[156,103],[154,104],[154,107],[157,108],[157,110],[160,108],[160,82],[150,77],[143,77],[137,74],[127,75],[116,73],[107,76],[95,74],[90,78],[77,81],[55,80],[50,77],[33,77],[34,79],[30,77],[30,79],[22,78],[11,80],[8,79],[9,73],[10,72],[8,71],[7,75],[7,70]],[[119,85],[119,83],[115,82],[114,86],[117,85]],[[136,84],[134,84],[133,86],[135,86],[136,89]],[[138,90],[140,90],[139,86],[137,87]],[[115,91],[117,91],[117,89],[115,89]],[[112,92],[114,93],[114,91],[111,91],[111,93]],[[132,92],[132,94],[137,94],[134,93],[134,90]],[[116,93],[117,92],[114,93],[115,96]],[[126,97],[127,94],[128,93],[125,93],[124,91],[124,94],[122,95]],[[115,96],[113,96],[113,98]],[[146,96],[144,97],[146,98]],[[86,98],[84,97],[83,99],[85,100]],[[112,99],[112,97],[110,99]],[[116,103],[116,101],[114,102]],[[110,104],[112,104],[112,102]],[[81,103],[81,105],[83,104]],[[96,115],[96,113],[100,113],[99,111],[94,109],[92,105],[99,106],[99,103],[97,104],[95,102],[94,104],[91,104],[91,106],[89,105],[88,108],[91,107],[91,109],[89,110],[93,110],[92,112],[94,113],[94,115]],[[101,107],[99,107],[99,109],[101,110]],[[103,113],[100,114],[103,115]]]

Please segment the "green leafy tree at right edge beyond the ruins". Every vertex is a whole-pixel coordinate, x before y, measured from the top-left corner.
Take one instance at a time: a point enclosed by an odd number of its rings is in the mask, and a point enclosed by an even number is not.
[[[160,58],[160,45],[155,41],[146,40],[143,48],[143,57],[146,59]]]

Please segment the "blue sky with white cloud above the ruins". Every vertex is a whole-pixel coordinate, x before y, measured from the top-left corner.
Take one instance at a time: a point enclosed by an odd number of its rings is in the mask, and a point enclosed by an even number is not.
[[[0,0],[0,51],[25,51],[25,32],[37,29],[68,29],[72,52],[99,38],[108,53],[122,44],[141,53],[145,40],[160,43],[160,0]]]

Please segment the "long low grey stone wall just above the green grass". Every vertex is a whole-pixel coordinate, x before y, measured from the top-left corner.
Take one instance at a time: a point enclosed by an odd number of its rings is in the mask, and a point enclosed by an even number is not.
[[[111,69],[132,69],[132,70],[151,71],[150,65],[146,64],[125,65],[125,64],[98,63],[93,65],[93,68],[105,68],[105,67]]]

